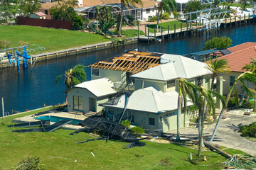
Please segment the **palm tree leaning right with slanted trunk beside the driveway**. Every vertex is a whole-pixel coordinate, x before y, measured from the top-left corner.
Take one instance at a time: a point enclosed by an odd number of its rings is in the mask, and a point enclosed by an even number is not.
[[[231,87],[230,91],[228,92],[227,97],[225,98],[225,106],[228,106],[228,101],[230,100],[230,96],[231,96],[233,90],[234,89],[236,90],[236,84],[238,84],[238,82],[240,82],[240,84],[242,85],[242,89],[245,91],[245,93],[247,95],[252,96],[251,91],[256,94],[255,90],[250,89],[245,85],[245,81],[250,81],[250,82],[252,82],[252,84],[256,84],[256,74],[254,74],[252,72],[244,72],[244,73],[240,74],[240,76],[237,79],[235,79],[233,86]],[[220,112],[220,116],[218,118],[218,121],[213,130],[213,135],[210,137],[210,141],[209,141],[210,143],[213,142],[215,133],[217,132],[218,126],[220,125],[220,120],[223,118],[224,112],[225,112],[225,108],[222,108],[221,112]]]

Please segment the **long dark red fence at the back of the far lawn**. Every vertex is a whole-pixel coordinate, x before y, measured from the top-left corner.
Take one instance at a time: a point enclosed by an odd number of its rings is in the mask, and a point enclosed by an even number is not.
[[[28,18],[21,16],[17,16],[17,25],[41,26],[48,28],[62,28],[67,30],[73,30],[72,21],[58,21],[39,18]]]

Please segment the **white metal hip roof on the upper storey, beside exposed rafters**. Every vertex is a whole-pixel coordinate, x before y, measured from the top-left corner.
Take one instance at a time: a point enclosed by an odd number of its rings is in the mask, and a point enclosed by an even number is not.
[[[208,69],[204,68],[206,66],[205,63],[181,55],[164,54],[161,56],[161,63],[165,64],[139,72],[132,75],[132,77],[168,81],[178,78],[191,79],[211,74]]]

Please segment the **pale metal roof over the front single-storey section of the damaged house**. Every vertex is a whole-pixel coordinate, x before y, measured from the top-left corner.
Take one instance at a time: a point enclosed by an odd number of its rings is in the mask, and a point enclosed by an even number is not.
[[[124,108],[124,95],[119,98],[119,102],[116,105],[110,105],[108,103],[102,104],[102,106],[109,106],[115,108]],[[193,103],[188,102],[188,106],[192,106]],[[139,89],[134,91],[128,98],[127,109],[135,111],[144,111],[149,113],[165,113],[167,111],[175,111],[178,106],[178,93],[176,91],[170,91],[163,93],[153,87],[146,89]]]

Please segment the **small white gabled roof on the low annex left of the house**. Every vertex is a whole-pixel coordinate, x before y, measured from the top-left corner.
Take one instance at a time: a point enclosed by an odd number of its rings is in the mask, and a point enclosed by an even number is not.
[[[91,81],[85,81],[81,84],[75,85],[76,88],[87,89],[97,97],[107,96],[110,94],[116,94],[114,91],[114,84],[107,78],[95,79]]]

